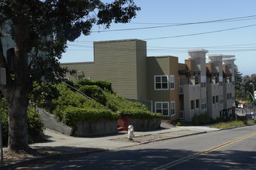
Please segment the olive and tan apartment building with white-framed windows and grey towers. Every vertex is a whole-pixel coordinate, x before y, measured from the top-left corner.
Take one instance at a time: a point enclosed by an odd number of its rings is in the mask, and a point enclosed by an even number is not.
[[[61,63],[70,80],[108,80],[128,99],[150,100],[154,112],[171,121],[192,121],[195,114],[216,119],[229,114],[234,97],[234,56],[189,49],[189,59],[147,56],[147,42],[124,39],[94,42],[94,62]]]

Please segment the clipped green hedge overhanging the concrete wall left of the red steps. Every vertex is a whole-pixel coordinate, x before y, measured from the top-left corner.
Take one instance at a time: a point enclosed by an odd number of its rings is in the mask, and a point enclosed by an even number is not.
[[[78,108],[67,107],[64,110],[64,124],[67,124],[71,128],[76,129],[76,124],[79,121],[90,121],[99,119],[117,120],[119,114],[115,114],[107,109],[95,109],[95,108]]]

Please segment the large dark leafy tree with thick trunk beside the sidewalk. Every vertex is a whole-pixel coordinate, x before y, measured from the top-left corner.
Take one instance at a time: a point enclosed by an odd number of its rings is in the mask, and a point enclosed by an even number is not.
[[[112,22],[126,23],[140,8],[133,0],[2,0],[0,26],[10,28],[15,42],[12,63],[8,63],[0,41],[0,67],[6,70],[6,85],[0,85],[8,102],[9,149],[28,149],[27,106],[33,80],[56,80],[63,75],[59,66],[67,41],[81,33],[90,34],[92,26],[108,29]],[[1,33],[0,37],[5,34]],[[12,69],[11,66],[14,68]]]

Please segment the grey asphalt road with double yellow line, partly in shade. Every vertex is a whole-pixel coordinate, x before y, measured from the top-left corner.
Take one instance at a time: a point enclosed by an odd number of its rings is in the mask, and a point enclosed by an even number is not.
[[[256,125],[157,141],[29,169],[256,169]]]

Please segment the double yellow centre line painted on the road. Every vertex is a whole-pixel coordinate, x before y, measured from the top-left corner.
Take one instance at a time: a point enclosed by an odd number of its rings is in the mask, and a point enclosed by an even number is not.
[[[197,153],[195,153],[195,154],[193,154],[193,155],[186,156],[186,157],[184,157],[184,158],[180,158],[180,159],[178,159],[178,160],[176,160],[176,161],[174,161],[174,162],[169,162],[169,163],[167,163],[167,164],[161,165],[161,166],[159,166],[159,167],[157,167],[157,168],[153,168],[153,169],[154,169],[154,170],[157,170],[157,169],[171,168],[171,167],[173,167],[173,166],[175,166],[175,165],[181,164],[182,162],[189,161],[189,160],[192,159],[192,158],[197,158],[197,157],[199,157],[199,156],[201,156],[201,155],[209,154],[209,153],[212,152],[212,151],[216,151],[216,150],[218,150],[218,149],[220,149],[220,148],[223,148],[223,147],[225,147],[225,146],[227,146],[227,145],[234,144],[234,143],[237,142],[237,141],[242,141],[242,140],[244,140],[244,139],[246,139],[246,138],[250,138],[250,137],[252,137],[252,136],[254,136],[254,135],[256,135],[256,133],[248,134],[248,135],[246,135],[246,136],[244,136],[244,137],[240,137],[240,138],[234,139],[234,140],[232,140],[232,141],[227,141],[226,143],[223,143],[223,144],[221,144],[221,145],[217,145],[217,146],[215,146],[215,147],[213,147],[213,148],[209,148],[209,149],[206,149],[206,150],[204,150],[204,151],[199,151],[199,152],[197,152]]]

